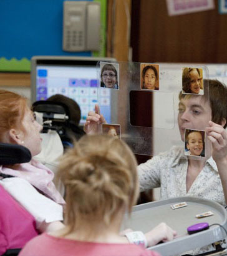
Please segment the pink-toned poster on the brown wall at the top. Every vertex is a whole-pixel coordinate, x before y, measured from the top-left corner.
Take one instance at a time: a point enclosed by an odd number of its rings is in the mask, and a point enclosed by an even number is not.
[[[166,0],[168,15],[181,15],[191,12],[207,11],[215,9],[213,0]]]

